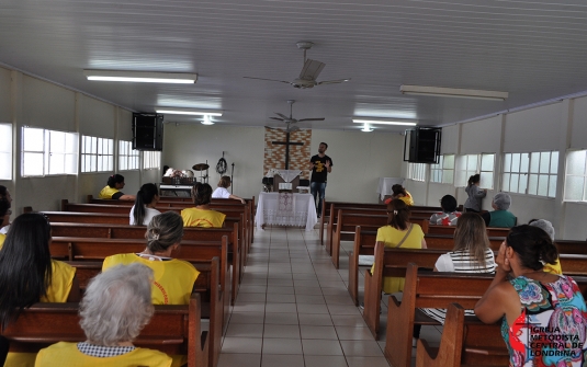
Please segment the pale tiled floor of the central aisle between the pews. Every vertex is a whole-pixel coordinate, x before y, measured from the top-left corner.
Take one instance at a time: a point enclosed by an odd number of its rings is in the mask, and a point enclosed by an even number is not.
[[[257,231],[218,366],[387,367],[385,342],[374,341],[347,290],[347,257],[337,271],[317,230]],[[430,329],[422,333],[439,339]]]

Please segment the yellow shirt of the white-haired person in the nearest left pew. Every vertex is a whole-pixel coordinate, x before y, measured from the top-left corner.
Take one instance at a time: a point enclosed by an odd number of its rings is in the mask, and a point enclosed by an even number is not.
[[[38,352],[35,367],[45,366],[170,367],[171,357],[165,353],[147,348],[135,348],[132,352],[114,357],[92,357],[79,352],[77,343],[59,342]]]

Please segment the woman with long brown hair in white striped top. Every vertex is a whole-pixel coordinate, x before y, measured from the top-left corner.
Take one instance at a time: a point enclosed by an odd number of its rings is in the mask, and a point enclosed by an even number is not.
[[[496,268],[494,252],[489,248],[485,222],[476,213],[465,213],[459,218],[454,229],[454,248],[438,257],[434,272],[451,273],[494,273]],[[421,309],[424,313],[444,324],[445,309]],[[465,314],[475,314],[466,310]],[[420,335],[421,325],[415,325],[414,337]]]

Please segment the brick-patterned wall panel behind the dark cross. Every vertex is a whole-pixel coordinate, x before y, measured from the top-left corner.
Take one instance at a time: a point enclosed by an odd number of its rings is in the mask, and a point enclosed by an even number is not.
[[[273,141],[286,140],[286,133],[281,129],[264,129],[264,163],[263,175],[270,169],[285,169],[285,146]],[[291,142],[303,142],[303,146],[290,146],[290,170],[301,170],[301,179],[309,180],[307,169],[311,158],[312,130],[297,130],[290,133]]]

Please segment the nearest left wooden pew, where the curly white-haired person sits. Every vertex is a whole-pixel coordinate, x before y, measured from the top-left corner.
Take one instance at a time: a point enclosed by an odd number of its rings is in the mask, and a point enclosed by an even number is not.
[[[10,341],[10,352],[37,353],[57,342],[86,341],[78,309],[78,303],[35,303],[25,309],[2,332]],[[197,294],[187,306],[155,306],[150,322],[134,344],[168,355],[187,355],[190,367],[215,367],[208,358],[210,340],[207,332],[202,332],[200,313]]]

